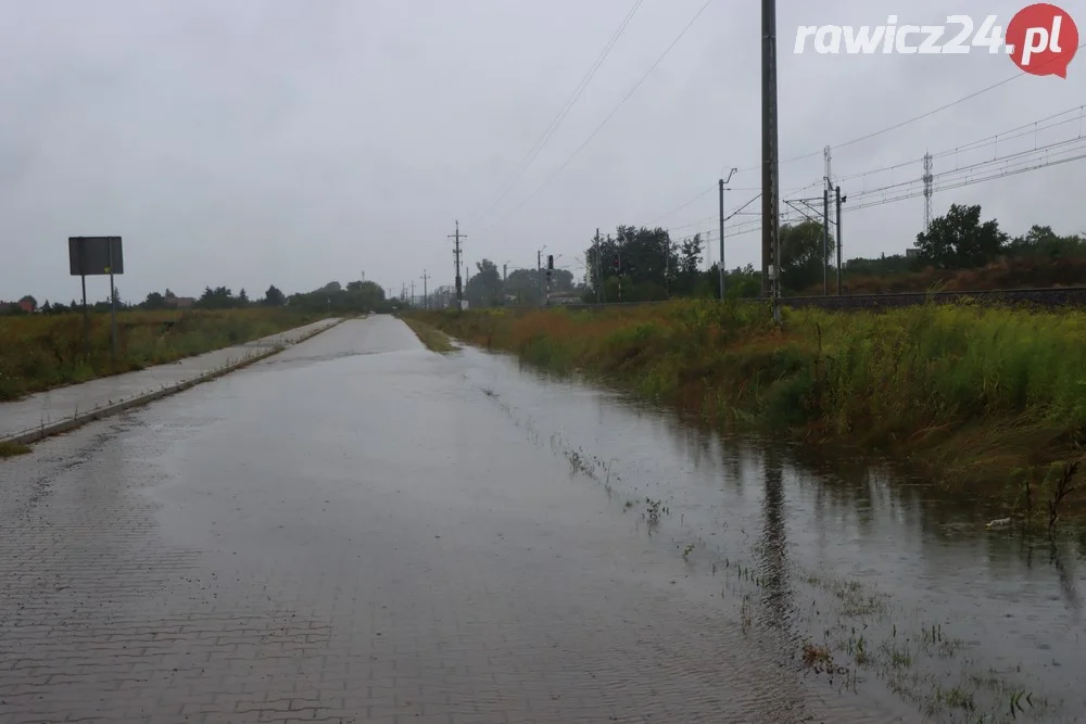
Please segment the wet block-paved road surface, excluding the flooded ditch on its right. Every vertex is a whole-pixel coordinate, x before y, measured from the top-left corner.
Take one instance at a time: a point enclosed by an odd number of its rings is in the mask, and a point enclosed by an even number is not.
[[[389,317],[0,481],[3,723],[912,721],[752,636]]]

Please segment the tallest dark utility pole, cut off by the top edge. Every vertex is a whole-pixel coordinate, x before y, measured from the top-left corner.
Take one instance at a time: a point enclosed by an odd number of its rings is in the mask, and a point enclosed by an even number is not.
[[[781,323],[781,158],[776,117],[776,0],[761,0],[761,266],[762,292],[772,291]],[[772,270],[772,284],[770,275]]]

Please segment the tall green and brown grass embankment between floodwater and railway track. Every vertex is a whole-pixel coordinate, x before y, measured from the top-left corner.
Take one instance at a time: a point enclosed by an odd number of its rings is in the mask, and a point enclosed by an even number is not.
[[[454,338],[605,376],[722,425],[906,455],[1047,520],[1086,440],[1086,314],[976,306],[886,313],[756,304],[427,313]],[[1062,481],[1062,482],[1061,482]]]

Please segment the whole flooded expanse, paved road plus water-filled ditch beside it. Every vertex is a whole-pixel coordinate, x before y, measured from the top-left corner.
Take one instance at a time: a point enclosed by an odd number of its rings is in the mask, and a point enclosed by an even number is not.
[[[1076,721],[1082,542],[851,467],[349,321],[0,466],[0,722]]]

